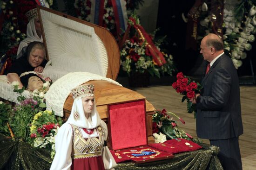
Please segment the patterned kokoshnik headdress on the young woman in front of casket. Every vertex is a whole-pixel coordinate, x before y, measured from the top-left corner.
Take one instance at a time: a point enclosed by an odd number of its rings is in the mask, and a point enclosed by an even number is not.
[[[94,85],[84,84],[78,86],[77,88],[74,88],[71,93],[73,94],[73,99],[94,96]]]

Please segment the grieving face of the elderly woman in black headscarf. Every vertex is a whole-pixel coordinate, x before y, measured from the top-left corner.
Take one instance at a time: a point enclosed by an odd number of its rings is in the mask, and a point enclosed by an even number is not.
[[[44,51],[41,49],[35,49],[29,54],[28,63],[32,67],[37,67],[37,66],[40,66],[43,60],[44,60]]]

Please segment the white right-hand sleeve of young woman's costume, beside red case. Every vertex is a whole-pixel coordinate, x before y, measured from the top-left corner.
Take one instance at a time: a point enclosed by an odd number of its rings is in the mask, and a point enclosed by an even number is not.
[[[103,128],[103,131],[104,131],[103,139],[105,141],[108,138],[108,127],[103,120],[101,120],[101,127]],[[111,152],[109,151],[108,146],[103,146],[102,148],[103,149],[101,151],[101,155],[102,155],[105,170],[115,170],[114,167],[117,164],[115,163],[115,159],[112,156]]]

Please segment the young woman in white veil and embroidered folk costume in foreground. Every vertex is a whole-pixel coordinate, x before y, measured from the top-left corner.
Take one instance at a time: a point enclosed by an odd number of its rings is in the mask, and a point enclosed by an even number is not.
[[[113,169],[116,163],[106,146],[108,130],[96,110],[94,86],[81,85],[72,94],[71,114],[56,135],[51,170]]]

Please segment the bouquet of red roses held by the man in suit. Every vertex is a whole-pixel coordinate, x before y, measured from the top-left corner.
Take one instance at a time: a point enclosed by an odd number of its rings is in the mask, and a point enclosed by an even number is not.
[[[194,112],[194,116],[196,116],[196,104],[193,104],[189,99],[195,97],[195,94],[200,92],[202,86],[198,82],[191,81],[190,78],[184,76],[182,72],[179,72],[176,77],[177,81],[172,84],[172,87],[177,93],[184,95],[182,102],[187,100],[188,113]]]

